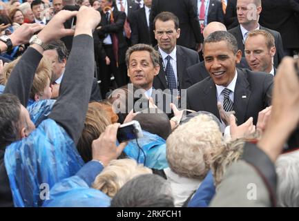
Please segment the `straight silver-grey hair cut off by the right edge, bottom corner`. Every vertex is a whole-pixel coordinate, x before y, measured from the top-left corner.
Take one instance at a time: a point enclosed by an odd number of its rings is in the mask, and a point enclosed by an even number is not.
[[[299,152],[280,155],[276,162],[278,206],[299,206]]]

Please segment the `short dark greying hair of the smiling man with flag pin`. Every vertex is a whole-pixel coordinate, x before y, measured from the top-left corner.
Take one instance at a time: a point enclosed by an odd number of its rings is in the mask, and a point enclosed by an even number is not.
[[[204,45],[206,43],[215,43],[220,41],[226,41],[227,46],[233,51],[234,54],[238,52],[238,43],[237,40],[231,33],[224,30],[219,30],[211,33],[206,39],[204,39]],[[203,46],[204,48],[204,46]]]

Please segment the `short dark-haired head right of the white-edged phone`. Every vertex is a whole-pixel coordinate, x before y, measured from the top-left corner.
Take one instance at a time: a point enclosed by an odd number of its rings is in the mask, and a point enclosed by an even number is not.
[[[159,135],[164,140],[171,134],[171,124],[166,113],[139,113],[134,119],[144,131]]]

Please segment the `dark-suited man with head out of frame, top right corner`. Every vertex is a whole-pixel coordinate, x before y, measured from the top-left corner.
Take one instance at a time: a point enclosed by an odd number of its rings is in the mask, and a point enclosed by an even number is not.
[[[284,55],[293,56],[299,50],[299,1],[263,0],[260,24],[280,32]]]

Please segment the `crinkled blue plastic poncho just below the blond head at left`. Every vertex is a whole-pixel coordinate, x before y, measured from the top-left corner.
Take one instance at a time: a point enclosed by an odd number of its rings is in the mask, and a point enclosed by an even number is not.
[[[38,102],[33,102],[30,99],[28,101],[27,110],[35,127],[39,126],[44,119],[48,119],[55,102],[55,99],[41,99]]]

